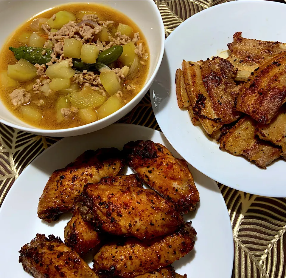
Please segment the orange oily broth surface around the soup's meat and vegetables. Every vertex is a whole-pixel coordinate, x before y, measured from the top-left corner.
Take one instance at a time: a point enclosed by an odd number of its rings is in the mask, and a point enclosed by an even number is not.
[[[143,46],[145,49],[144,51],[146,53],[149,53],[148,45],[147,45],[146,39],[144,38],[143,33],[141,32],[139,27],[132,20],[130,20],[127,16],[125,16],[124,14],[122,14],[122,13],[120,13],[120,12],[118,12],[112,8],[109,8],[109,7],[106,7],[103,5],[99,5],[99,4],[88,4],[88,3],[66,4],[66,5],[61,5],[59,7],[52,8],[51,10],[48,10],[46,12],[43,12],[43,13],[31,18],[29,21],[25,22],[21,27],[19,27],[17,30],[15,30],[15,32],[7,40],[7,42],[4,44],[4,46],[1,50],[0,71],[1,70],[7,70],[7,67],[9,64],[15,64],[17,62],[17,60],[14,57],[14,53],[12,51],[10,51],[8,48],[9,48],[9,46],[19,47],[19,46],[24,45],[24,44],[19,43],[17,39],[18,39],[18,36],[22,33],[33,32],[33,30],[29,27],[29,25],[32,23],[32,21],[38,17],[50,18],[53,16],[53,14],[55,14],[61,10],[69,11],[69,12],[73,13],[75,16],[80,11],[94,12],[98,15],[98,17],[101,20],[104,20],[104,21],[112,20],[112,21],[114,21],[114,24],[113,24],[114,27],[117,27],[119,23],[127,24],[133,28],[133,33],[136,33],[136,32],[140,33],[140,37],[141,37],[141,40],[143,41]],[[130,76],[128,76],[127,78],[125,78],[121,82],[121,85],[128,83],[128,84],[132,84],[132,85],[136,86],[136,91],[135,90],[134,91],[128,91],[126,89],[126,86],[122,86],[122,88],[121,88],[122,104],[126,104],[123,102],[124,100],[126,100],[127,103],[130,100],[132,100],[137,95],[137,93],[142,89],[142,87],[144,86],[144,83],[145,83],[145,81],[147,79],[147,75],[148,75],[148,69],[149,69],[149,63],[150,63],[149,61],[150,61],[150,58],[147,59],[146,61],[144,61],[145,65],[139,63],[138,69],[136,70],[136,72],[134,72],[133,74],[131,74]],[[18,87],[20,87],[21,85],[23,85],[23,87],[25,87],[29,83],[34,84],[37,78],[38,78],[38,76],[36,78],[34,78],[33,80],[30,80],[27,82],[18,81],[18,84],[19,84]],[[3,87],[1,88],[1,84],[0,84],[1,101],[5,104],[5,106],[17,118],[20,118],[22,121],[24,121],[24,122],[26,122],[32,126],[36,126],[36,127],[43,128],[43,129],[65,129],[65,128],[71,128],[71,127],[76,127],[76,126],[82,126],[82,125],[86,124],[86,122],[84,122],[80,119],[78,113],[73,114],[74,115],[73,118],[70,118],[68,120],[63,120],[61,122],[57,122],[55,106],[56,106],[58,97],[63,96],[63,95],[55,93],[54,95],[51,94],[48,97],[45,97],[42,92],[35,93],[35,92],[32,92],[32,90],[29,90],[29,92],[31,93],[31,101],[27,105],[37,109],[39,112],[42,113],[43,117],[41,118],[41,120],[37,120],[37,121],[32,121],[30,119],[27,119],[26,117],[24,117],[21,114],[19,107],[15,108],[15,106],[11,102],[9,94],[14,89],[15,88],[8,88],[5,90]],[[37,104],[32,102],[32,101],[38,101],[40,99],[43,99],[45,102],[44,105],[42,105],[42,106],[38,106]]]

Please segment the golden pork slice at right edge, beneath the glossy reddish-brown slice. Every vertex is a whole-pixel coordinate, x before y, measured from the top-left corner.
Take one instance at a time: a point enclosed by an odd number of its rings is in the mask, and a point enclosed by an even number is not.
[[[283,105],[271,123],[256,126],[256,134],[260,139],[270,141],[282,147],[282,156],[286,159],[286,106]]]

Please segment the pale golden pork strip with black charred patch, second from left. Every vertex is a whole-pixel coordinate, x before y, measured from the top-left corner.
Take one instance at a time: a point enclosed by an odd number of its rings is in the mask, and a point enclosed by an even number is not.
[[[222,127],[223,123],[220,122],[219,115],[212,107],[211,98],[203,84],[200,66],[195,62],[186,62],[184,60],[182,67],[186,91],[196,112],[194,117],[199,118],[206,133],[212,134],[212,132]]]

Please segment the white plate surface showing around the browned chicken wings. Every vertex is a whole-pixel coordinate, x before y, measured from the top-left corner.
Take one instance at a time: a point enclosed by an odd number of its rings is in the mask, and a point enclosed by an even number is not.
[[[116,124],[87,135],[65,138],[37,157],[18,177],[0,208],[0,277],[31,277],[18,263],[18,251],[36,233],[54,234],[64,239],[63,229],[69,215],[65,214],[59,222],[50,224],[37,217],[39,197],[55,169],[66,166],[88,149],[122,149],[125,143],[139,139],[164,144],[179,157],[161,132],[128,124]],[[233,238],[226,204],[215,181],[192,167],[190,169],[200,193],[200,204],[197,212],[186,217],[192,220],[198,236],[194,250],[173,265],[179,273],[186,273],[190,278],[230,278]],[[127,173],[132,173],[130,168]]]

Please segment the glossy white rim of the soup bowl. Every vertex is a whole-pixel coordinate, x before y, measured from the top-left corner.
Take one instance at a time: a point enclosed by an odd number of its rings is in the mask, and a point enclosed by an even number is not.
[[[134,0],[134,1],[136,1],[136,0]],[[0,118],[0,123],[5,124],[5,125],[10,126],[10,127],[13,127],[14,129],[19,129],[21,131],[29,132],[29,133],[32,133],[32,134],[39,134],[39,133],[44,134],[45,133],[46,136],[53,136],[54,133],[57,133],[57,134],[58,133],[62,133],[62,135],[64,135],[65,133],[72,132],[73,130],[77,130],[77,131],[82,130],[83,131],[84,129],[88,129],[90,126],[103,123],[104,121],[108,121],[108,119],[110,119],[112,117],[116,117],[116,115],[119,114],[122,111],[122,109],[124,109],[125,107],[132,106],[134,104],[134,102],[136,102],[136,101],[139,102],[144,97],[144,95],[146,94],[147,90],[152,85],[155,76],[157,75],[157,72],[158,72],[158,70],[160,68],[160,65],[161,65],[161,62],[162,62],[162,59],[163,59],[164,49],[165,49],[165,29],[164,29],[164,23],[163,23],[163,19],[162,19],[161,13],[160,13],[156,3],[153,0],[145,0],[145,1],[148,1],[151,4],[151,7],[153,7],[153,9],[155,11],[155,14],[157,15],[157,18],[159,18],[159,25],[157,25],[157,26],[159,27],[159,31],[161,33],[161,40],[160,40],[161,50],[160,50],[160,53],[158,55],[158,61],[157,61],[156,67],[155,67],[155,69],[153,71],[153,74],[150,76],[149,80],[144,85],[144,87],[139,91],[139,93],[134,98],[132,98],[131,101],[129,101],[126,105],[122,106],[116,112],[114,112],[114,113],[108,115],[107,117],[102,118],[102,119],[100,119],[98,121],[95,121],[95,122],[92,122],[92,123],[88,123],[88,124],[85,124],[85,125],[82,125],[82,126],[70,127],[70,128],[65,128],[65,129],[41,129],[41,128],[36,128],[36,127],[25,127],[25,126],[20,126],[18,124],[10,123],[9,121],[6,121],[6,120],[1,119],[1,118]],[[57,5],[57,6],[59,6],[59,5]],[[114,9],[116,10],[116,8],[114,8]],[[146,91],[146,92],[143,95],[144,91]],[[140,98],[140,100],[138,101],[139,98]],[[122,116],[122,117],[124,117],[124,116]],[[111,124],[108,124],[107,126],[109,126]],[[102,128],[104,128],[104,127],[102,127]],[[54,135],[54,136],[58,137],[60,135]]]

